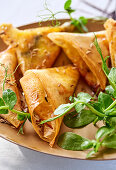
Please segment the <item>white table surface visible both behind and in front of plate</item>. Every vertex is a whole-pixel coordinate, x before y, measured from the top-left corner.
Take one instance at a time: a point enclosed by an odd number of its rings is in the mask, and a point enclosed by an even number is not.
[[[101,9],[105,9],[108,0],[88,0]],[[112,1],[108,11],[111,12],[115,6]],[[48,0],[51,9],[56,12],[63,10],[65,0]],[[40,10],[43,10],[43,0],[4,0],[0,3],[0,24],[12,23],[20,26],[32,22],[38,22]],[[96,4],[95,4],[96,3]],[[73,0],[72,7],[78,7],[75,16],[84,15],[93,17],[102,15],[98,10],[85,6],[82,1]],[[83,11],[80,11],[83,9]],[[86,10],[85,10],[86,9]],[[90,12],[91,11],[91,12]],[[42,11],[46,13],[46,11]],[[66,18],[67,15],[59,15],[58,18]],[[115,170],[116,161],[89,161],[62,158],[32,151],[5,139],[0,138],[0,170]]]

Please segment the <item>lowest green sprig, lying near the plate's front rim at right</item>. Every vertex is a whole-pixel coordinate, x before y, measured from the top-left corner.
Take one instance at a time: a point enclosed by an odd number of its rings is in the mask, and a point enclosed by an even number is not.
[[[116,129],[115,127],[103,126],[98,129],[95,140],[86,139],[72,132],[65,132],[60,135],[58,145],[66,150],[83,151],[90,148],[87,158],[97,153],[100,147],[116,149]]]

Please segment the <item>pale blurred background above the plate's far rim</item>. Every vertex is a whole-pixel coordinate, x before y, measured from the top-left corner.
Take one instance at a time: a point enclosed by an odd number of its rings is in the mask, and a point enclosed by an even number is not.
[[[65,0],[46,0],[49,9],[54,13],[63,11]],[[115,15],[116,0],[72,0],[72,8],[77,9],[74,17]],[[7,22],[20,26],[40,20],[39,15],[48,14],[44,10],[44,0],[1,0],[0,24]],[[42,11],[43,10],[43,11]],[[58,14],[57,18],[67,18],[67,14]]]

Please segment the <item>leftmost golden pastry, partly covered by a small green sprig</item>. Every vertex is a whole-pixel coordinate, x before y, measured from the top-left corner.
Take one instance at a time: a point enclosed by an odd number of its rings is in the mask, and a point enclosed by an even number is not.
[[[17,58],[15,49],[9,48],[6,51],[0,53],[0,64],[3,64],[5,67],[8,67],[8,75],[11,75],[7,78],[5,82],[5,89],[11,89],[16,93],[17,103],[15,105],[16,110],[21,110],[20,98],[18,88],[15,83],[14,71],[17,66]],[[3,92],[3,81],[5,77],[5,70],[2,66],[0,66],[0,96],[2,96]],[[1,117],[6,119],[8,122],[13,124],[16,128],[19,127],[21,122],[17,119],[17,114],[9,111],[8,114],[0,114]]]

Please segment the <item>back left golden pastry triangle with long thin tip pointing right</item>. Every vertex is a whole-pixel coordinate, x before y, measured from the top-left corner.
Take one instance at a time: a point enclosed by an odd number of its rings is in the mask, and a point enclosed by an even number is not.
[[[70,27],[68,28],[69,31]],[[47,34],[65,30],[66,26],[19,30],[11,24],[2,24],[0,36],[7,45],[17,46],[18,63],[21,64],[24,74],[28,69],[49,68],[53,65],[60,53],[60,47],[55,45]]]

